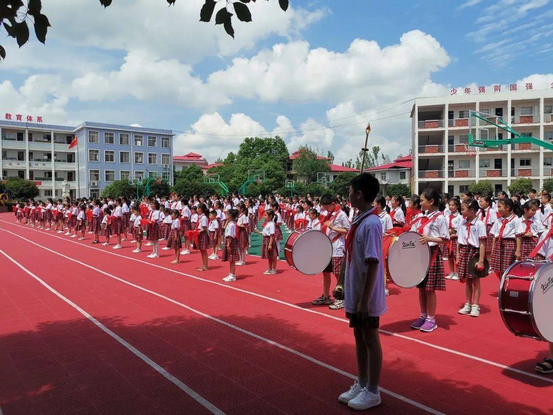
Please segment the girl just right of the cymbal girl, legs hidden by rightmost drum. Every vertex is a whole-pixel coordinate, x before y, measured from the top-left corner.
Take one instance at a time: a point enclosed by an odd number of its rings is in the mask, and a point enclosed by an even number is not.
[[[520,251],[520,240],[516,238],[515,219],[520,215],[520,205],[511,199],[497,201],[500,219],[492,226],[492,258],[490,267],[501,278],[505,269],[515,261],[515,252]]]

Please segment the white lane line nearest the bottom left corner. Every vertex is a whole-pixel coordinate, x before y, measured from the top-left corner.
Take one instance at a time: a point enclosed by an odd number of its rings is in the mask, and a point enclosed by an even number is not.
[[[23,269],[26,273],[28,273],[31,277],[36,279],[40,284],[42,284],[46,289],[48,289],[51,293],[57,295],[59,298],[64,300],[67,304],[71,305],[75,310],[77,310],[79,313],[84,315],[88,320],[92,321],[92,323],[96,324],[98,328],[100,328],[102,331],[104,331],[106,334],[111,336],[113,339],[117,340],[119,343],[121,343],[123,346],[125,346],[128,350],[132,351],[137,357],[142,359],[145,363],[147,363],[149,366],[151,366],[154,370],[158,371],[160,375],[167,378],[169,381],[173,382],[176,386],[178,386],[182,391],[184,391],[187,395],[189,395],[192,399],[194,399],[196,402],[204,406],[208,411],[210,411],[213,414],[216,415],[225,415],[225,412],[221,411],[221,409],[218,409],[215,405],[213,405],[211,402],[207,401],[205,398],[202,398],[200,395],[198,395],[194,390],[192,390],[190,387],[186,386],[184,382],[176,378],[175,376],[171,375],[168,371],[163,369],[160,365],[158,365],[156,362],[154,362],[152,359],[150,359],[148,356],[144,355],[140,350],[138,350],[136,347],[134,347],[132,344],[129,344],[126,340],[119,337],[117,334],[113,333],[113,331],[109,330],[105,325],[100,323],[100,321],[96,320],[92,315],[88,314],[85,310],[80,308],[77,304],[72,302],[69,298],[65,297],[63,294],[56,291],[54,288],[50,287],[47,283],[45,283],[42,279],[37,277],[35,274],[33,274],[31,271],[29,271],[27,268],[22,266],[19,262],[15,261],[11,256],[9,256],[6,252],[2,251],[0,249],[0,253],[4,255],[8,260],[12,261],[15,265],[17,265],[19,268]],[[2,411],[0,411],[0,415],[2,415]]]

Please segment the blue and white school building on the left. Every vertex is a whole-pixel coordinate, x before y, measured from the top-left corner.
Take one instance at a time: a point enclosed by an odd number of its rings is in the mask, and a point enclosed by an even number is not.
[[[168,129],[83,122],[77,127],[0,121],[0,180],[34,180],[38,198],[97,197],[115,180],[157,177],[173,183],[173,137]],[[69,144],[77,137],[77,145]]]

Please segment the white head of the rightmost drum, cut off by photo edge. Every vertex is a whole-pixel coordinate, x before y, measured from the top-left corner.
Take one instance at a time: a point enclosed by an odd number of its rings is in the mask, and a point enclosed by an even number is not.
[[[530,313],[542,339],[553,341],[553,262],[542,267],[530,291]]]

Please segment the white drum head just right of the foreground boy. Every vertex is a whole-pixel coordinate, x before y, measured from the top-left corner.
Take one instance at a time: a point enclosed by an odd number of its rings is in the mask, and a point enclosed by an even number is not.
[[[388,251],[388,271],[392,281],[402,288],[413,288],[422,282],[430,268],[430,248],[421,245],[420,235],[404,232]],[[439,261],[440,258],[436,258]]]

